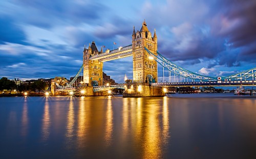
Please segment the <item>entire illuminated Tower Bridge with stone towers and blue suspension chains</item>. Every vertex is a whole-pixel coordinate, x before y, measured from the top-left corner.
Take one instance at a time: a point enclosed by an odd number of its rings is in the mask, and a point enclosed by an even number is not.
[[[106,91],[113,88],[125,89],[124,97],[163,96],[163,87],[193,87],[193,86],[254,86],[256,84],[256,68],[223,77],[211,77],[191,72],[169,61],[158,52],[156,30],[152,34],[145,21],[140,31],[133,28],[132,44],[110,50],[103,48],[99,51],[93,41],[83,50],[83,64],[67,86],[60,86],[52,81],[52,92],[58,90],[75,90],[77,78],[82,76],[83,86],[86,85],[87,94]],[[118,86],[103,85],[103,62],[133,56],[133,82]],[[158,67],[163,69],[163,83],[158,81]],[[164,69],[168,72],[169,82],[164,83]],[[173,75],[173,76],[172,76]],[[174,79],[171,79],[171,77]],[[180,81],[178,81],[180,79]],[[172,82],[173,80],[173,82]],[[184,82],[183,82],[184,80]]]

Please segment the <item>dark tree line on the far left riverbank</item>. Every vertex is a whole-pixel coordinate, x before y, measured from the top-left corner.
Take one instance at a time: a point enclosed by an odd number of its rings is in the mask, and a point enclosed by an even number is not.
[[[0,91],[7,90],[9,93],[11,93],[13,90],[16,90],[19,93],[30,91],[37,91],[39,93],[40,91],[47,90],[48,87],[49,86],[44,81],[35,81],[34,83],[30,84],[16,85],[14,81],[9,80],[7,77],[2,77],[0,79]]]

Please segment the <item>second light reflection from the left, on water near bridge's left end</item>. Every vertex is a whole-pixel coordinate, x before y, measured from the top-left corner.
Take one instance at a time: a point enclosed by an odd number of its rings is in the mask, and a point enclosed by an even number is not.
[[[42,140],[48,140],[50,135],[50,124],[49,101],[48,97],[46,97],[44,116],[42,117]]]

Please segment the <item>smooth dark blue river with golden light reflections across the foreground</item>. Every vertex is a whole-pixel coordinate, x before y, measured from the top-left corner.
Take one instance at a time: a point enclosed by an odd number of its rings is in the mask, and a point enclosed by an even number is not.
[[[255,97],[1,97],[0,158],[256,158]]]

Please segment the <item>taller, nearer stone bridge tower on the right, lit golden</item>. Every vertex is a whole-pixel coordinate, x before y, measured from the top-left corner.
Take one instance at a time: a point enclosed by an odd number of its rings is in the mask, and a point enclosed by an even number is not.
[[[157,83],[157,62],[152,59],[144,47],[157,56],[157,35],[147,29],[145,20],[140,31],[133,29],[133,80],[134,82]]]

